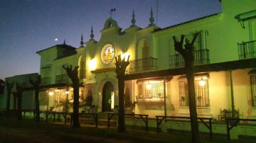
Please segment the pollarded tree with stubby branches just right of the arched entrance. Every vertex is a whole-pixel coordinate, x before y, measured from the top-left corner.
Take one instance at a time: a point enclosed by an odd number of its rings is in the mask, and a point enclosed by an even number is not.
[[[124,73],[126,67],[130,64],[129,62],[130,55],[128,56],[127,61],[125,58],[121,59],[121,55],[115,57],[116,60],[116,78],[118,79],[118,99],[119,99],[119,113],[118,113],[118,132],[125,132],[124,124]]]

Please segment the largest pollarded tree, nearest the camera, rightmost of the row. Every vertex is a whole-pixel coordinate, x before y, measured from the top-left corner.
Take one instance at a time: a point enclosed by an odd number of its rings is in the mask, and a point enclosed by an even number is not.
[[[196,33],[193,37],[191,43],[187,39],[185,39],[185,48],[183,48],[183,40],[184,35],[181,35],[180,42],[176,40],[174,36],[174,47],[175,50],[178,51],[184,59],[185,69],[186,69],[186,77],[188,84],[188,103],[189,103],[189,113],[190,113],[190,125],[191,125],[191,134],[192,134],[192,142],[198,143],[199,141],[199,129],[198,129],[198,120],[197,120],[197,107],[196,107],[196,93],[195,93],[195,79],[194,79],[194,42],[199,33]]]

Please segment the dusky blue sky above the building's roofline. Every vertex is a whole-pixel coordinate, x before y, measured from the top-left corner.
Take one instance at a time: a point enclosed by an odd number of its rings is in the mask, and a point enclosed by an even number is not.
[[[130,27],[134,9],[135,24],[144,28],[150,23],[151,7],[161,28],[221,12],[219,0],[159,0],[158,18],[157,0],[0,0],[0,79],[39,72],[36,51],[62,44],[64,39],[79,47],[81,34],[84,42],[90,39],[91,26],[98,41],[112,8],[119,27]]]

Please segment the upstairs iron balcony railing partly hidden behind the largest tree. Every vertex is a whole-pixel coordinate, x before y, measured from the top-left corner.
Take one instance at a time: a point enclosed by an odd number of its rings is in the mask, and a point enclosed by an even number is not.
[[[194,61],[195,66],[205,65],[205,64],[210,63],[208,49],[196,50],[194,56],[195,56],[195,61]],[[180,53],[169,56],[169,67],[170,68],[184,67],[184,66],[185,66],[184,59]]]

